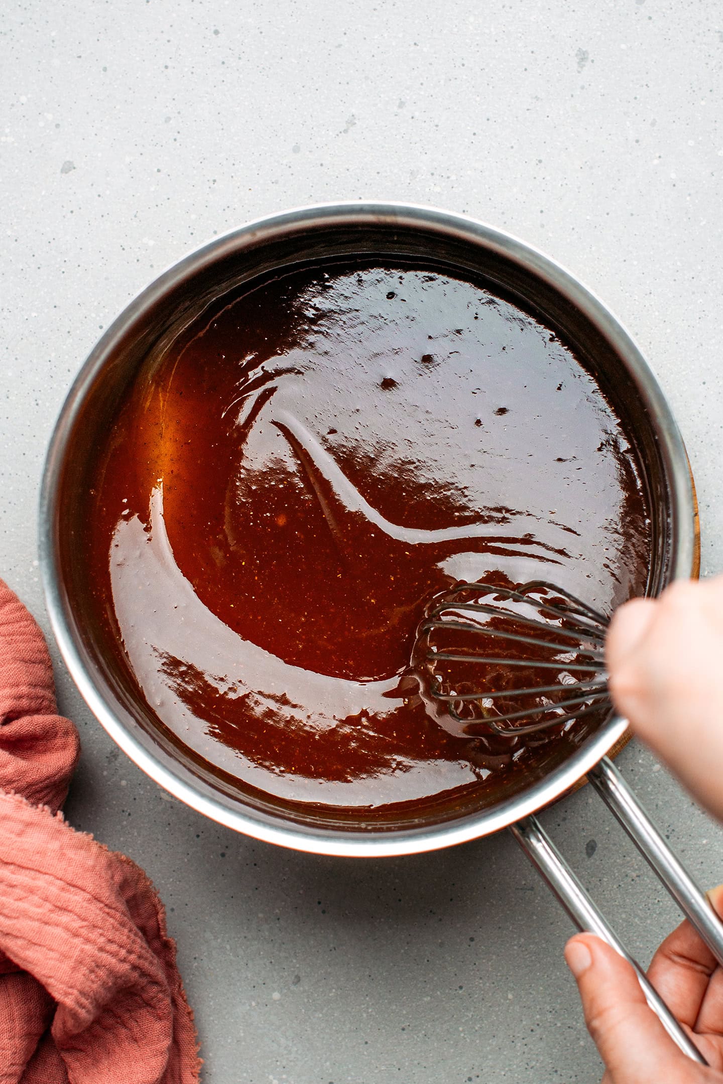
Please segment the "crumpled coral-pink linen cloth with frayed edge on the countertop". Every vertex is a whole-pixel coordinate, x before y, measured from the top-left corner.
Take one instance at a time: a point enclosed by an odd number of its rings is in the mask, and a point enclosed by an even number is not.
[[[0,580],[0,1084],[192,1084],[193,1015],[142,869],[63,818],[79,743]]]

